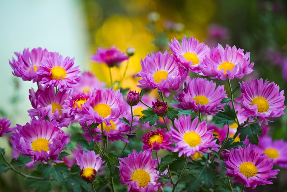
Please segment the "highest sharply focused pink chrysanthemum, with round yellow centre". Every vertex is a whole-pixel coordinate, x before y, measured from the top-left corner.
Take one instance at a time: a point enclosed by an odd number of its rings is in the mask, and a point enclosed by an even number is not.
[[[171,40],[171,44],[168,43],[171,52],[175,55],[174,59],[183,65],[185,69],[189,69],[194,73],[201,72],[199,64],[203,62],[203,59],[210,48],[204,43],[199,43],[197,39],[190,37],[186,40],[186,36],[183,37],[182,48],[179,41],[174,38]]]

